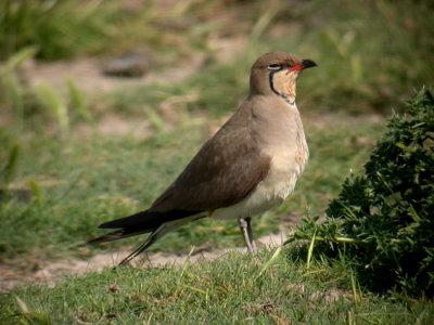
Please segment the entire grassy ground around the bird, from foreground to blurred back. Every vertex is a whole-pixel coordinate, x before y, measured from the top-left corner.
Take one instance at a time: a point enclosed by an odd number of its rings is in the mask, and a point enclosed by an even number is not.
[[[433,83],[433,12],[430,1],[2,1],[0,262],[31,272],[38,260],[105,249],[85,246],[100,234],[97,225],[152,203],[247,94],[252,63],[271,50],[319,64],[298,82],[311,155],[292,199],[254,220],[255,236],[294,214],[321,213],[349,171],[361,170],[382,116]],[[130,50],[151,55],[151,75],[188,73],[177,82],[151,78],[106,92],[74,79],[68,88],[35,87],[36,76],[23,73],[29,57],[34,65],[103,62]],[[120,122],[127,131],[116,131]],[[203,243],[242,245],[237,222],[203,220],[153,249],[188,252]],[[5,323],[432,323],[430,301],[354,296],[345,261],[319,260],[307,272],[305,257],[288,256],[260,278],[254,275],[267,251],[191,265],[180,280],[177,268],[105,270],[2,295],[0,314]],[[107,288],[113,284],[118,289]],[[342,294],[334,302],[327,300],[333,290]]]

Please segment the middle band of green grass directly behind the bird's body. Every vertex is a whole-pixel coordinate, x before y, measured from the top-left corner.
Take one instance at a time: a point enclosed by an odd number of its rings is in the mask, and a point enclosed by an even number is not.
[[[277,231],[281,218],[289,212],[302,216],[306,209],[323,210],[349,169],[361,168],[381,130],[381,123],[368,123],[361,118],[352,121],[345,115],[312,118],[326,119],[327,123],[315,126],[307,118],[311,152],[308,168],[293,198],[255,221],[256,236]],[[35,251],[41,257],[62,257],[99,234],[98,224],[146,208],[205,141],[204,120],[194,120],[193,116],[174,130],[144,141],[128,134],[103,136],[98,132],[89,138],[74,136],[78,132],[74,129],[66,140],[44,134],[22,140],[10,187],[30,191],[29,182],[34,181],[40,187],[41,199],[21,202],[11,192],[11,197],[0,203],[1,259]],[[358,142],[359,138],[368,139],[368,144],[367,140]],[[0,131],[0,140],[5,144],[0,158],[7,161],[17,140],[5,130]],[[209,229],[215,230],[210,236]],[[131,242],[136,243],[126,243]],[[187,250],[190,245],[204,242],[215,247],[233,246],[241,245],[242,237],[237,222],[204,220],[168,236],[155,249]]]

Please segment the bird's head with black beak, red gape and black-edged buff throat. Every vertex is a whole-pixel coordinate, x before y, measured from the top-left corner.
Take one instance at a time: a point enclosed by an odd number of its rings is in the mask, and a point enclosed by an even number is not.
[[[298,75],[314,66],[317,66],[314,61],[302,60],[290,53],[264,54],[252,67],[251,94],[276,94],[293,104]]]

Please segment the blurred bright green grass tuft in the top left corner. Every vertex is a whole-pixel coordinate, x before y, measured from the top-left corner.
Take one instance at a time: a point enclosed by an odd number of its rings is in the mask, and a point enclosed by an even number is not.
[[[0,57],[35,47],[38,57],[59,60],[101,47],[113,34],[113,5],[100,1],[13,1],[0,4]]]

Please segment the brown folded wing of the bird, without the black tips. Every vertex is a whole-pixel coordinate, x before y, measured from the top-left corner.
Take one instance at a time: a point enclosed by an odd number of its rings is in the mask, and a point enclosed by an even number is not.
[[[268,173],[270,158],[259,152],[248,127],[253,117],[242,113],[202,146],[151,211],[213,210],[237,204],[256,187]]]

